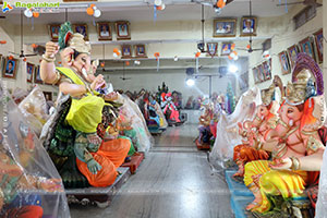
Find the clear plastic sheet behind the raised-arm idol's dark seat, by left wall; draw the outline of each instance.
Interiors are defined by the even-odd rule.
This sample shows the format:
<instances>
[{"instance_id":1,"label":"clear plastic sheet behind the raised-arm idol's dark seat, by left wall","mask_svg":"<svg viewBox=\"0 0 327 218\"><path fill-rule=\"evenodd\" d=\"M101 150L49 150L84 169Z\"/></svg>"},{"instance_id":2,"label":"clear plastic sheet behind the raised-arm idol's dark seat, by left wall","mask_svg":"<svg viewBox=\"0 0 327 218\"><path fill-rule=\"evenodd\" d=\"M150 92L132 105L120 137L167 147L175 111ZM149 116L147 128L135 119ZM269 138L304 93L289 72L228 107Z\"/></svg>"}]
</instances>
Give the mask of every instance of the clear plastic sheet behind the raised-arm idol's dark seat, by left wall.
<instances>
[{"instance_id":1,"label":"clear plastic sheet behind the raised-arm idol's dark seat, by left wall","mask_svg":"<svg viewBox=\"0 0 327 218\"><path fill-rule=\"evenodd\" d=\"M44 124L49 119L49 114L47 114L47 101L41 89L35 86L19 105L19 108L24 114L28 126L39 136Z\"/></svg>"}]
</instances>

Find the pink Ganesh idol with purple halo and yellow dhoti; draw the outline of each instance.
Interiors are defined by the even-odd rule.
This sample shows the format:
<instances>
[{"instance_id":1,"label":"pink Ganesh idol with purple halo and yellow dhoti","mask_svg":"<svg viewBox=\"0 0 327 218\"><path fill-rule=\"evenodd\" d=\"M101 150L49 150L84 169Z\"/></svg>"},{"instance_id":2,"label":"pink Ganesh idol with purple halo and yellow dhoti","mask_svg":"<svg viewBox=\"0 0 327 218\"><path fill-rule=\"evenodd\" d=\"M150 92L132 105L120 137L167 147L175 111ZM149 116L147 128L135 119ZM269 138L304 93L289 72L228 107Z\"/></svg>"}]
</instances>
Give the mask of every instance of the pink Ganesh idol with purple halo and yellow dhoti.
<instances>
[{"instance_id":1,"label":"pink Ganesh idol with purple halo and yellow dhoti","mask_svg":"<svg viewBox=\"0 0 327 218\"><path fill-rule=\"evenodd\" d=\"M262 146L272 152L272 161L245 165L244 183L255 196L246 209L254 213L271 210L278 196L284 201L302 197L322 167L325 147L318 129L326 110L323 74L311 57L300 53L292 78L279 123Z\"/></svg>"}]
</instances>

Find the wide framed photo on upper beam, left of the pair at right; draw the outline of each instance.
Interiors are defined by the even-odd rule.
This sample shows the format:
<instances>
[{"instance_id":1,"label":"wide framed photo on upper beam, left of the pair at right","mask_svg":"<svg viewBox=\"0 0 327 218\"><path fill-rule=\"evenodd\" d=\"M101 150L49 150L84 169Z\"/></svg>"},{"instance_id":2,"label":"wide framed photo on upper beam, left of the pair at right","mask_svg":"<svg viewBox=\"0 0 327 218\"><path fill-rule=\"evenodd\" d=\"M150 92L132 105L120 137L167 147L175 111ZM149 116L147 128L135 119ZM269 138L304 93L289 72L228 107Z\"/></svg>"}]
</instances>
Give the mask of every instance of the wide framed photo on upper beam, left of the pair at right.
<instances>
[{"instance_id":1,"label":"wide framed photo on upper beam, left of the pair at right","mask_svg":"<svg viewBox=\"0 0 327 218\"><path fill-rule=\"evenodd\" d=\"M214 20L214 37L234 37L237 35L237 19Z\"/></svg>"}]
</instances>

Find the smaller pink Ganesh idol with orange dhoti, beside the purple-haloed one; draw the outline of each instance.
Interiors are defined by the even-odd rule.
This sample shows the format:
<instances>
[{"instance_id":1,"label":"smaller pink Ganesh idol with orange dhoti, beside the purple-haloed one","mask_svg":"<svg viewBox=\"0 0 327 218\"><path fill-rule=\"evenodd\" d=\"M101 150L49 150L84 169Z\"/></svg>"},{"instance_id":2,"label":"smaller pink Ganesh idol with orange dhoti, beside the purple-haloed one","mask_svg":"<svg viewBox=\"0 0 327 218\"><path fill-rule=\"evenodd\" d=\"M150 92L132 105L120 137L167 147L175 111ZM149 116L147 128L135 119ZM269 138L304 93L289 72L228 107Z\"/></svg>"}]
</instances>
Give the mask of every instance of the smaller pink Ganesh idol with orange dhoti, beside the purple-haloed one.
<instances>
[{"instance_id":1,"label":"smaller pink Ganesh idol with orange dhoti, beside the purple-haloed one","mask_svg":"<svg viewBox=\"0 0 327 218\"><path fill-rule=\"evenodd\" d=\"M239 123L239 132L244 140L241 145L234 147L233 160L239 166L239 170L234 177L243 178L244 165L246 162L269 158L269 154L262 149L261 146L269 131L274 130L277 125L279 102L275 100L275 86L280 81L278 78L275 77L269 89L263 94L263 105L257 107L255 118L252 121L247 120Z\"/></svg>"}]
</instances>

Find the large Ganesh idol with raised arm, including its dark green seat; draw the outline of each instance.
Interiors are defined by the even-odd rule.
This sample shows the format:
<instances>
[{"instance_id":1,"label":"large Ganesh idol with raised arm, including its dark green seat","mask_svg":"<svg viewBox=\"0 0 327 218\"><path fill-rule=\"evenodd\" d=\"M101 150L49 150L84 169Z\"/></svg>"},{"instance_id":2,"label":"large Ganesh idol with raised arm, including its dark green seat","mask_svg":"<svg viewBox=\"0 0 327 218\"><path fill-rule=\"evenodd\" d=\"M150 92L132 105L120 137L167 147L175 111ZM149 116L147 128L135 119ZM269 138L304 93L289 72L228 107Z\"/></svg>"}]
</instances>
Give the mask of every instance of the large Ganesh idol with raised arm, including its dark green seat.
<instances>
[{"instance_id":1,"label":"large Ganesh idol with raised arm, including its dark green seat","mask_svg":"<svg viewBox=\"0 0 327 218\"><path fill-rule=\"evenodd\" d=\"M58 46L49 41L40 76L46 83L58 84L60 93L69 100L62 100L65 107L58 107L58 114L53 113L49 120L55 125L48 125L46 145L66 186L72 181L71 186L86 186L85 178L93 186L108 186L114 182L117 168L131 146L129 140L102 141L97 133L99 125L107 126L114 121L112 100L117 95L96 92L106 85L104 76L94 76L90 46L83 35L73 34L69 22L61 26L59 45L63 66L56 68Z\"/></svg>"}]
</instances>

